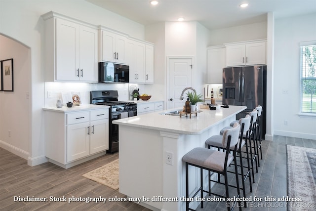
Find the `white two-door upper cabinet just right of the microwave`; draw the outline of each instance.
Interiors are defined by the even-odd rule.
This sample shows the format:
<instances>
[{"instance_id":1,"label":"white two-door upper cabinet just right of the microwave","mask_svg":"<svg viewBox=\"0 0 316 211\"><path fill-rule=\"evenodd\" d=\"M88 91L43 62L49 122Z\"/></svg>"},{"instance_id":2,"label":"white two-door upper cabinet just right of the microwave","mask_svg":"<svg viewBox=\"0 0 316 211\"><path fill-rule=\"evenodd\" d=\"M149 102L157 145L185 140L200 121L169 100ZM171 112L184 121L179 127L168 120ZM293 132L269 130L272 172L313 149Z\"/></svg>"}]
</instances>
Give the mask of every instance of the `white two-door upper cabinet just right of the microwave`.
<instances>
[{"instance_id":1,"label":"white two-door upper cabinet just right of the microwave","mask_svg":"<svg viewBox=\"0 0 316 211\"><path fill-rule=\"evenodd\" d=\"M129 65L130 83L154 83L153 44L134 39L127 39L126 64Z\"/></svg>"}]
</instances>

